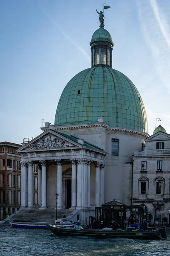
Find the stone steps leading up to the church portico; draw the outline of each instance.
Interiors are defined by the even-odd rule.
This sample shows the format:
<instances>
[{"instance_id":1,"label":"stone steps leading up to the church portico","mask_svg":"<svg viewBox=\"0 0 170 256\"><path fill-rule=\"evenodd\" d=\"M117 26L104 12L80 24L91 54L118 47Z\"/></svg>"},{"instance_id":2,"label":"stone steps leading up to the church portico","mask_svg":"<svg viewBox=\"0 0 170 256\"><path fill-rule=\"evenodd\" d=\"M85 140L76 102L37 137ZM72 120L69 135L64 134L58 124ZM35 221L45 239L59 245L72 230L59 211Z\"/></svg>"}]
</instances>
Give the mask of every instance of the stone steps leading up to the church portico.
<instances>
[{"instance_id":1,"label":"stone steps leading up to the church portico","mask_svg":"<svg viewBox=\"0 0 170 256\"><path fill-rule=\"evenodd\" d=\"M73 210L70 209L58 209L57 218L63 218L65 215L66 218L71 214ZM10 218L10 216L9 216ZM56 220L56 209L23 209L18 212L16 215L10 218L11 220L23 220L23 221L40 221L54 223Z\"/></svg>"}]
</instances>

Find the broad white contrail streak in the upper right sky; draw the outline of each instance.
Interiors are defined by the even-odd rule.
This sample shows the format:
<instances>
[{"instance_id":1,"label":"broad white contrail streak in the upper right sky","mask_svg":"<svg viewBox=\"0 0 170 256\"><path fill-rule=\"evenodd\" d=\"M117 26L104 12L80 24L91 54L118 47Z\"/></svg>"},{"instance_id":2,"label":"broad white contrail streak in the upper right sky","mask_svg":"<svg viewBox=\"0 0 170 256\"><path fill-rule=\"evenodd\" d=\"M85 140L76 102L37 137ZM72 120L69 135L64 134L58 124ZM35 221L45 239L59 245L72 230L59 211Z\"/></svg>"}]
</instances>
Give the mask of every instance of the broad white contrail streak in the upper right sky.
<instances>
[{"instance_id":1,"label":"broad white contrail streak in the upper right sky","mask_svg":"<svg viewBox=\"0 0 170 256\"><path fill-rule=\"evenodd\" d=\"M170 92L170 34L165 15L156 0L136 0L144 39L154 58L157 87ZM155 88L156 89L156 88Z\"/></svg>"}]
</instances>

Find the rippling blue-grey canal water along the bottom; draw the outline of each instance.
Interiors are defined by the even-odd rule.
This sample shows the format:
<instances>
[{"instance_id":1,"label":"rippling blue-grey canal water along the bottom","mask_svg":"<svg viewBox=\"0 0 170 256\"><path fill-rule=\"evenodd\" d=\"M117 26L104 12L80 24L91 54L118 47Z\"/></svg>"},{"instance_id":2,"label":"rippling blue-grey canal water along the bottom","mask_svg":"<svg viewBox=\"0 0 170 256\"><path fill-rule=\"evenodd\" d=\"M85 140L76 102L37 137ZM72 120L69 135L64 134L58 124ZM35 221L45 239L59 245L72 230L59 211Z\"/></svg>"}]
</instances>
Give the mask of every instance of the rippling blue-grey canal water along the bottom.
<instances>
[{"instance_id":1,"label":"rippling blue-grey canal water along the bottom","mask_svg":"<svg viewBox=\"0 0 170 256\"><path fill-rule=\"evenodd\" d=\"M0 227L0 256L170 256L166 240L57 237L50 230Z\"/></svg>"}]
</instances>

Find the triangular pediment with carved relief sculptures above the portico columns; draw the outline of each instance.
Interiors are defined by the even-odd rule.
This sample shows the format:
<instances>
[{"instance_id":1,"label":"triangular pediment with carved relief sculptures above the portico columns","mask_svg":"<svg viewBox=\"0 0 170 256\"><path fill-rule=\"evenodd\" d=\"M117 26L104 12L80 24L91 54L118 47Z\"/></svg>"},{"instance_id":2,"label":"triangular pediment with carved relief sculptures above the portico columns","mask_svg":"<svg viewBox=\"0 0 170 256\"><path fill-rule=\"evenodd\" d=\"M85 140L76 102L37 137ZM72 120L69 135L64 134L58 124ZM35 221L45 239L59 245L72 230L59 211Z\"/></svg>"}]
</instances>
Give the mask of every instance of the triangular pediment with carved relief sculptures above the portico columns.
<instances>
[{"instance_id":1,"label":"triangular pediment with carved relief sculptures above the portico columns","mask_svg":"<svg viewBox=\"0 0 170 256\"><path fill-rule=\"evenodd\" d=\"M55 131L45 131L34 140L23 145L18 152L48 151L55 149L81 148L79 143L57 134Z\"/></svg>"}]
</instances>

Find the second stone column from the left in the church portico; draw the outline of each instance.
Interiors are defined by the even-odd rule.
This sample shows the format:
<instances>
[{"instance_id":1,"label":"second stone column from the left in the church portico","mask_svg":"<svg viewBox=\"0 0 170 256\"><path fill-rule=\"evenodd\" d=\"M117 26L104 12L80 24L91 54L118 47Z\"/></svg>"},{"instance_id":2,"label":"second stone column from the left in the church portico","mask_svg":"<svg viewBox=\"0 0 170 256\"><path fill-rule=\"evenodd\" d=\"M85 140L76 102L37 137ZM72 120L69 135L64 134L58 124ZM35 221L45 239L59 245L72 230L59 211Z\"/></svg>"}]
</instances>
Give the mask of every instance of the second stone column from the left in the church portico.
<instances>
[{"instance_id":1,"label":"second stone column from the left in the church portico","mask_svg":"<svg viewBox=\"0 0 170 256\"><path fill-rule=\"evenodd\" d=\"M33 208L33 163L28 162L28 208Z\"/></svg>"}]
</instances>

